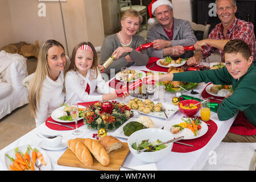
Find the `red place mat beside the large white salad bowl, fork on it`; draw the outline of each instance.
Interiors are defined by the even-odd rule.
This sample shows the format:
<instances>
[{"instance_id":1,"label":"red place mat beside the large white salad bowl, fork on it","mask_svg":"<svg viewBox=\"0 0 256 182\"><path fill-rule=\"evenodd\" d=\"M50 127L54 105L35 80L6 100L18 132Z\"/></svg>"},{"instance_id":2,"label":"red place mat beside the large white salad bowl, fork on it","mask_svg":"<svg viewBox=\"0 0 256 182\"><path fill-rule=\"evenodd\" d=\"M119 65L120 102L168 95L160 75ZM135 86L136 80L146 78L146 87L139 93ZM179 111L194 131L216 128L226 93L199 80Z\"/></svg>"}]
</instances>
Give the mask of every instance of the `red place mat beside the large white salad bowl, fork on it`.
<instances>
[{"instance_id":1,"label":"red place mat beside the large white salad bowl, fork on it","mask_svg":"<svg viewBox=\"0 0 256 182\"><path fill-rule=\"evenodd\" d=\"M212 138L212 136L216 133L218 129L216 123L213 122L212 120L206 121L205 123L210 124L210 126L207 125L208 131L202 137L177 141L177 142L192 144L193 147L185 146L184 144L174 143L174 146L172 147L172 152L186 153L186 152L193 152L193 151L199 150L200 148L203 148L209 142L209 140Z\"/></svg>"}]
</instances>

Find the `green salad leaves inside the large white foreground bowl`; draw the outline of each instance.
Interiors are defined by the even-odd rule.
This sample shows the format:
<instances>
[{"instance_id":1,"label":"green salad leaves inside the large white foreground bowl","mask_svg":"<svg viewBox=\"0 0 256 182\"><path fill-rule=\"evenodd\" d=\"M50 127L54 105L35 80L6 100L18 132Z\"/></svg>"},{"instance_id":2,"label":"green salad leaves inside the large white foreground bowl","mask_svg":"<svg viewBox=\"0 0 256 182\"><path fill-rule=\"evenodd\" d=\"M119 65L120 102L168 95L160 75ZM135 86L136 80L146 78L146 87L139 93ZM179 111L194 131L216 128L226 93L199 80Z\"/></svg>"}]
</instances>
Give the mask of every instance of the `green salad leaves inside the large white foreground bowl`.
<instances>
[{"instance_id":1,"label":"green salad leaves inside the large white foreground bowl","mask_svg":"<svg viewBox=\"0 0 256 182\"><path fill-rule=\"evenodd\" d=\"M137 142L134 142L131 147L134 150L142 150L144 148L147 148L145 152L154 152L154 151L159 151L162 150L163 148L166 148L166 144L160 144L159 146L154 146L155 144L162 143L159 139L156 140L156 142L150 143L148 142L149 140L142 140L142 142L137 146Z\"/></svg>"}]
</instances>

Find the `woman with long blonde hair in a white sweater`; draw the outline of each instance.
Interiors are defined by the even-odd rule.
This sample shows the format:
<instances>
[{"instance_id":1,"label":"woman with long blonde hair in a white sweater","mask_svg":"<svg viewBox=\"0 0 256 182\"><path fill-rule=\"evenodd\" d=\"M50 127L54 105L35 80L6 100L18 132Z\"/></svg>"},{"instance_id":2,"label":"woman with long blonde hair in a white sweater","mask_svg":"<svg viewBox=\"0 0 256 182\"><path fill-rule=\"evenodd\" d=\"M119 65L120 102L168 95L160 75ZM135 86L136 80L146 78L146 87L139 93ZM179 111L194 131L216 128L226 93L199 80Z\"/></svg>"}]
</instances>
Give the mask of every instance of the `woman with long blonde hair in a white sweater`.
<instances>
[{"instance_id":1,"label":"woman with long blonde hair in a white sweater","mask_svg":"<svg viewBox=\"0 0 256 182\"><path fill-rule=\"evenodd\" d=\"M30 83L28 101L36 127L64 102L64 69L67 68L64 47L47 40L40 48L38 65Z\"/></svg>"}]
</instances>

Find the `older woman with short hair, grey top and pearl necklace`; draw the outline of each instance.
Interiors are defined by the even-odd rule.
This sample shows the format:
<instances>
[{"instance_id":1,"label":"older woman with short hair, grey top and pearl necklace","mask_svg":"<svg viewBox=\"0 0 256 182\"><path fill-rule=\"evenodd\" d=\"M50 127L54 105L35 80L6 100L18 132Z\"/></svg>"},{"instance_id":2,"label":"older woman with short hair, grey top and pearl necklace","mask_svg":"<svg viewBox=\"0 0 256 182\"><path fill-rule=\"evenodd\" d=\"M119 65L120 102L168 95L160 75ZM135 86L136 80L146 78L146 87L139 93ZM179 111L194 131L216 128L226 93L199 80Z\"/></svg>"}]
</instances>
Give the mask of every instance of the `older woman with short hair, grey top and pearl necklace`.
<instances>
[{"instance_id":1,"label":"older woman with short hair, grey top and pearl necklace","mask_svg":"<svg viewBox=\"0 0 256 182\"><path fill-rule=\"evenodd\" d=\"M121 18L121 31L105 38L101 47L100 64L116 54L114 62L105 69L106 74L110 74L110 69L114 69L117 73L122 67L130 67L134 63L136 65L147 64L147 50L135 51L141 44L146 43L142 36L135 35L141 22L142 16L136 10L129 9Z\"/></svg>"}]
</instances>

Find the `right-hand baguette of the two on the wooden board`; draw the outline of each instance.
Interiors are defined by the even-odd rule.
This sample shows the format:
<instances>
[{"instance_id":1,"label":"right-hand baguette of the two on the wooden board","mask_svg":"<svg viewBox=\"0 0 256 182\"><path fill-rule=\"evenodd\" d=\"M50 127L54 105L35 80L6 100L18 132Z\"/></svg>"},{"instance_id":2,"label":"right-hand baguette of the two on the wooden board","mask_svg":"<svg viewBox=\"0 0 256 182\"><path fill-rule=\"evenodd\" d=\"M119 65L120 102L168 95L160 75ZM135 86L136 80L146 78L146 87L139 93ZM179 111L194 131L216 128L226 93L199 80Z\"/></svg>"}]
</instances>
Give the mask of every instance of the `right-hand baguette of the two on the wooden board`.
<instances>
[{"instance_id":1,"label":"right-hand baguette of the two on the wooden board","mask_svg":"<svg viewBox=\"0 0 256 182\"><path fill-rule=\"evenodd\" d=\"M107 166L110 163L108 153L106 152L105 148L100 143L98 143L97 140L85 138L84 144L92 153L94 158L96 158L98 162L101 163L102 166Z\"/></svg>"}]
</instances>

